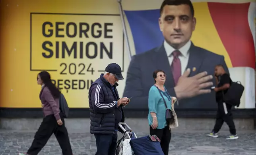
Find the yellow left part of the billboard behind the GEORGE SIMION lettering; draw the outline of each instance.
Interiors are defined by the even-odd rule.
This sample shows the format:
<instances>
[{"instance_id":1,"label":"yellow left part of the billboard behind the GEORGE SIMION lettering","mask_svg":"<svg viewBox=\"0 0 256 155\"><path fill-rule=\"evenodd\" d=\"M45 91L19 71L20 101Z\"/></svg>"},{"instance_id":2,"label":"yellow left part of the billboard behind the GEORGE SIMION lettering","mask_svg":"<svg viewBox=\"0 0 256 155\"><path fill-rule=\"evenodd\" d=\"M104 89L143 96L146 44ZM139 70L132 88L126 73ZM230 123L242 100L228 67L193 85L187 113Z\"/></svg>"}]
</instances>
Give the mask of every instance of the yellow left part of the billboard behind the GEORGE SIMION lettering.
<instances>
[{"instance_id":1,"label":"yellow left part of the billboard behind the GEORGE SIMION lettering","mask_svg":"<svg viewBox=\"0 0 256 155\"><path fill-rule=\"evenodd\" d=\"M62 93L70 108L88 108L88 88L91 81L95 81L103 73L107 64L116 62L124 70L124 63L129 62L127 56L124 56L124 38L116 0L2 0L0 15L0 80L2 81L0 107L41 107L39 100L41 86L37 85L37 74L39 70L57 70L48 72L52 79L57 81L56 84L59 80L60 88L64 88ZM46 26L45 32L50 34L48 29L52 29L51 37L43 36L44 22L52 23L52 27ZM64 38L56 37L56 22L64 22L64 25L58 26L64 29L58 32L59 35L64 35ZM69 22L77 25L78 35L74 38L66 35L66 25ZM84 34L83 37L79 37L79 23L89 25L88 38ZM97 23L94 30L91 27L93 23ZM112 23L107 26L110 30L107 36L112 36L112 38L104 38L104 23ZM74 34L74 25L69 28L70 34ZM86 26L83 25L83 30L85 29ZM99 30L102 30L101 36L93 38L92 33L99 36ZM42 55L42 53L49 55L49 52L42 48L43 42L46 41L52 43L52 47L49 44L46 45L53 51L51 58L45 58ZM56 42L59 42L59 58L56 58ZM74 51L70 57L65 51L65 59L62 58L62 42L67 45L68 49L71 49L73 43L77 42L76 59L74 59ZM83 43L82 59L80 59L80 42ZM88 42L97 45L97 57L93 59L86 57L85 47ZM103 44L109 50L111 43L112 58L109 58ZM93 56L95 46L89 45L88 48L88 54ZM103 59L100 56L101 49ZM64 70L65 67L66 70ZM93 74L90 71L92 69ZM60 74L63 70L66 74ZM68 88L65 82L70 84L70 89L65 89L65 87ZM120 89L123 89L124 85L120 85ZM79 89L79 87L85 88Z\"/></svg>"}]
</instances>

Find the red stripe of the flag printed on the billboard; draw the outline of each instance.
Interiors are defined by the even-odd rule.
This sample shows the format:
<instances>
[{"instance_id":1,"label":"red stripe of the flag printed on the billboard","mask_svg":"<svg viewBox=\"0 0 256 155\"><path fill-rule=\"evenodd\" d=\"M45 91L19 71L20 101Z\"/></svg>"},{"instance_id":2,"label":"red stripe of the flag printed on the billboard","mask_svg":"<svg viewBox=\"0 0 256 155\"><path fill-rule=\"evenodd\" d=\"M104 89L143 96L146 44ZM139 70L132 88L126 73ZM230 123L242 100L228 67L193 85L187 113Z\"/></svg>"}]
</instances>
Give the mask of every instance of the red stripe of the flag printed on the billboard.
<instances>
[{"instance_id":1,"label":"red stripe of the flag printed on the billboard","mask_svg":"<svg viewBox=\"0 0 256 155\"><path fill-rule=\"evenodd\" d=\"M208 2L211 18L233 67L255 68L254 41L248 23L249 6L250 3Z\"/></svg>"}]
</instances>

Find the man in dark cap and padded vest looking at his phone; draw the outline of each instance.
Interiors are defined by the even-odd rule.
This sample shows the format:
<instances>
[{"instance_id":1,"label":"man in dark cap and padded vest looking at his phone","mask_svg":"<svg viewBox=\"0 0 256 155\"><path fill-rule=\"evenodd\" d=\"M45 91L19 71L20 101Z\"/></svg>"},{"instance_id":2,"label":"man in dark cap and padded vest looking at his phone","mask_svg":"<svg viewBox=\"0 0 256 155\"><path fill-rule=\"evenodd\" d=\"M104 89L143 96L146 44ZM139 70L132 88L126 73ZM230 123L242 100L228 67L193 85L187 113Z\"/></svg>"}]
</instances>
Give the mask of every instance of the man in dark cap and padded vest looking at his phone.
<instances>
[{"instance_id":1,"label":"man in dark cap and padded vest looking at his phone","mask_svg":"<svg viewBox=\"0 0 256 155\"><path fill-rule=\"evenodd\" d=\"M124 122L122 108L130 102L127 97L119 98L116 89L116 82L124 79L121 73L118 64L109 64L89 89L90 132L96 138L96 155L115 154L118 123Z\"/></svg>"}]
</instances>

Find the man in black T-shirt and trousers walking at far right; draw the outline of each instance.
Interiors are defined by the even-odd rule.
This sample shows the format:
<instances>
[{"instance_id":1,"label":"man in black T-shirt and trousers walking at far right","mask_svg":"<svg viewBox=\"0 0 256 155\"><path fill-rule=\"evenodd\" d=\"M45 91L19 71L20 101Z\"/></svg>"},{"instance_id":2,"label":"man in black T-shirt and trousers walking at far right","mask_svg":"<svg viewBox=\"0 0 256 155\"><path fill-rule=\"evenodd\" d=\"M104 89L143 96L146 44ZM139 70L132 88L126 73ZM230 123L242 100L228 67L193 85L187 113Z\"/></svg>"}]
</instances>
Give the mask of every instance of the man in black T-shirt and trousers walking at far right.
<instances>
[{"instance_id":1,"label":"man in black T-shirt and trousers walking at far right","mask_svg":"<svg viewBox=\"0 0 256 155\"><path fill-rule=\"evenodd\" d=\"M226 139L238 139L235 123L233 121L233 115L231 113L232 105L223 101L223 95L227 93L232 81L229 77L229 74L225 72L222 65L217 65L215 67L215 76L218 82L217 88L214 89L216 92L216 101L218 103L218 112L215 126L212 132L208 134L208 136L217 138L219 136L218 132L225 121L229 126L229 131L231 133L231 135ZM220 77L220 80L218 80L217 77Z\"/></svg>"}]
</instances>

